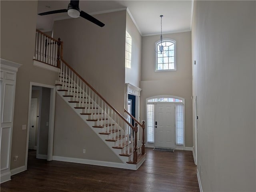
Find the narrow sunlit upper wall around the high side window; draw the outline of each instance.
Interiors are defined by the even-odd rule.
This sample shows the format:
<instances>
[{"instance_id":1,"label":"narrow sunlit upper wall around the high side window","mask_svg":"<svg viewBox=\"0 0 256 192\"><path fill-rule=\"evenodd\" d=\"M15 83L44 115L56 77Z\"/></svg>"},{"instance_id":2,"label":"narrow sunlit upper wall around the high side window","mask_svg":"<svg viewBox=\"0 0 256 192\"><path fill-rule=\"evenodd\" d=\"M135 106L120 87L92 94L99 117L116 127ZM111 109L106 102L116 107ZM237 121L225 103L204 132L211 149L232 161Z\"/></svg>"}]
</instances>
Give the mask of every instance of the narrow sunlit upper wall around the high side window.
<instances>
[{"instance_id":1,"label":"narrow sunlit upper wall around the high side window","mask_svg":"<svg viewBox=\"0 0 256 192\"><path fill-rule=\"evenodd\" d=\"M140 87L142 37L128 12L126 12L126 31L132 37L132 62L131 68L125 68L125 83Z\"/></svg>"}]
</instances>

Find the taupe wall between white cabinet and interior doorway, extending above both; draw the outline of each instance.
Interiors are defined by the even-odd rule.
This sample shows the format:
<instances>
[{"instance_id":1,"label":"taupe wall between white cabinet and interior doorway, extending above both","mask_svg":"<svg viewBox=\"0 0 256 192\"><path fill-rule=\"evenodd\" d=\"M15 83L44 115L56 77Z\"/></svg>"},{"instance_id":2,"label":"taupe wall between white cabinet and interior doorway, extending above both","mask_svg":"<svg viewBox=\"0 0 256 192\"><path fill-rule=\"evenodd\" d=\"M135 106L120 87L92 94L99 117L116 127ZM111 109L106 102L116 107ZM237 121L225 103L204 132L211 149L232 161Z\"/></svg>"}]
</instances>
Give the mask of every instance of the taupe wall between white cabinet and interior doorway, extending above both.
<instances>
[{"instance_id":1,"label":"taupe wall between white cabinet and interior doorway, extending above both","mask_svg":"<svg viewBox=\"0 0 256 192\"><path fill-rule=\"evenodd\" d=\"M0 57L22 64L17 73L14 104L11 158L19 156L17 161L11 161L14 169L25 165L27 129L22 130L22 125L28 123L30 81L55 85L58 74L33 66L37 1L1 0L0 7Z\"/></svg>"}]
</instances>

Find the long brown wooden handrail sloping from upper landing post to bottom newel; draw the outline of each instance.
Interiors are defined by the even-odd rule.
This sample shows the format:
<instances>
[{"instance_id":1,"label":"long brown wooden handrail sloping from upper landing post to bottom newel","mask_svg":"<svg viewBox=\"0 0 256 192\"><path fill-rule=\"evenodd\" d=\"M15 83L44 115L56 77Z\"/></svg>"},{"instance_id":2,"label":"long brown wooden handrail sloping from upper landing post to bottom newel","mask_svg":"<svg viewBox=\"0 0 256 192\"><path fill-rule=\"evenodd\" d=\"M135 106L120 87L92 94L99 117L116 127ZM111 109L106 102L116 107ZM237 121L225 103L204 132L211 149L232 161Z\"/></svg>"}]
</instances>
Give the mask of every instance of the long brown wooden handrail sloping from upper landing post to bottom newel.
<instances>
[{"instance_id":1,"label":"long brown wooden handrail sloping from upper landing post to bottom newel","mask_svg":"<svg viewBox=\"0 0 256 192\"><path fill-rule=\"evenodd\" d=\"M132 124L130 124L114 107L112 107L112 105L110 105L108 103L108 101L106 101L106 99L104 99L104 97L102 97L102 95L100 95L100 93L98 93L98 91L96 91L86 80L84 80L83 77L81 77L64 59L63 59L63 42L61 42L61 48L60 48L60 59L62 60L63 63L65 63L65 65L67 65L71 71L73 71L82 81L84 81L84 83L90 87L90 89L92 89L92 91L94 91L94 93L96 93L101 99L102 101L104 101L114 112L116 112L116 114L121 117L121 119L124 120L124 122L126 122L130 127L132 127L133 130L134 127L132 126Z\"/></svg>"}]
</instances>

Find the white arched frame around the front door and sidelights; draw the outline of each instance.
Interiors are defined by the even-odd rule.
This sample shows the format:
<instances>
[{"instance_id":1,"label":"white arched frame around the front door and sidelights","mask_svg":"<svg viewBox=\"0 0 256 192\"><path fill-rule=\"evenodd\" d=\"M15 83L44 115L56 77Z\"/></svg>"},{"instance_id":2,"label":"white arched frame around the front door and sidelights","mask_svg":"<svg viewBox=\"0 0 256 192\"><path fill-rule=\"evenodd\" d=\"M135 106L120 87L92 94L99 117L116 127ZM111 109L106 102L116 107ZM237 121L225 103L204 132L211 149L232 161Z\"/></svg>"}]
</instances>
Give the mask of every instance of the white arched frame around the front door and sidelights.
<instances>
[{"instance_id":1,"label":"white arched frame around the front door and sidelights","mask_svg":"<svg viewBox=\"0 0 256 192\"><path fill-rule=\"evenodd\" d=\"M159 97L169 97L169 98L174 98L174 99L180 99L182 100L183 102L148 102L148 100L150 99L155 99L155 98L159 98ZM148 104L154 104L154 103L182 103L183 104L183 146L182 147L178 147L180 145L177 145L176 144L176 149L179 149L179 150L186 150L186 125L185 125L185 99L182 98L182 97L177 97L177 96L174 96L174 95L156 95L156 96L153 96L153 97L148 97L146 98L146 119L148 117ZM175 112L176 113L176 112ZM146 122L146 121L145 121ZM151 147L151 148L154 148L155 146L155 143L151 144L151 143L148 143L148 125L147 125L148 122L145 123L145 145L146 147ZM175 122L176 124L176 122ZM176 130L176 126L175 126L175 130ZM176 142L176 138L175 138L175 142Z\"/></svg>"}]
</instances>

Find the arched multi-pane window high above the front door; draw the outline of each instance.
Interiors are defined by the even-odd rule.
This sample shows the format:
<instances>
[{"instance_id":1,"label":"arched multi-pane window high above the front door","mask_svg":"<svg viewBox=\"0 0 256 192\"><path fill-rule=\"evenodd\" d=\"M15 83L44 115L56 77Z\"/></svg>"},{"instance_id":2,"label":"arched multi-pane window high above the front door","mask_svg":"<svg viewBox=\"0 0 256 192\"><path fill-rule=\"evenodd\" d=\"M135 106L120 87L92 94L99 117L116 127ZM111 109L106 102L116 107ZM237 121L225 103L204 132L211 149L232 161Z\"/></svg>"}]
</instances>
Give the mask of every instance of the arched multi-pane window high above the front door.
<instances>
[{"instance_id":1,"label":"arched multi-pane window high above the front door","mask_svg":"<svg viewBox=\"0 0 256 192\"><path fill-rule=\"evenodd\" d=\"M176 71L176 41L163 39L156 46L155 71Z\"/></svg>"}]
</instances>

